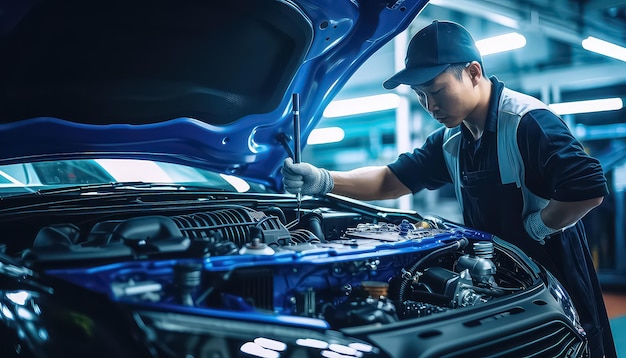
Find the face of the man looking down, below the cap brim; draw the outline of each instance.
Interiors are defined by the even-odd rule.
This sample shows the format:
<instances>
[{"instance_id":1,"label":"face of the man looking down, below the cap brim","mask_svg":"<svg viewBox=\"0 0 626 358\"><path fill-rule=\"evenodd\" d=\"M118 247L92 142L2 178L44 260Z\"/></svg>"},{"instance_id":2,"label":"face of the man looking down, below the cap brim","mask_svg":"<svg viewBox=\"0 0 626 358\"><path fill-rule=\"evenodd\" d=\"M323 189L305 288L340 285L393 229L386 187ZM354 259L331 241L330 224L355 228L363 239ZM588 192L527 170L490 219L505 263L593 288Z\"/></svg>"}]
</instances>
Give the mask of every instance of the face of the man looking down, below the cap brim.
<instances>
[{"instance_id":1,"label":"face of the man looking down, below the cap brim","mask_svg":"<svg viewBox=\"0 0 626 358\"><path fill-rule=\"evenodd\" d=\"M477 91L467 71L463 69L461 78L446 70L423 86L411 86L420 104L448 128L460 125L478 103Z\"/></svg>"}]
</instances>

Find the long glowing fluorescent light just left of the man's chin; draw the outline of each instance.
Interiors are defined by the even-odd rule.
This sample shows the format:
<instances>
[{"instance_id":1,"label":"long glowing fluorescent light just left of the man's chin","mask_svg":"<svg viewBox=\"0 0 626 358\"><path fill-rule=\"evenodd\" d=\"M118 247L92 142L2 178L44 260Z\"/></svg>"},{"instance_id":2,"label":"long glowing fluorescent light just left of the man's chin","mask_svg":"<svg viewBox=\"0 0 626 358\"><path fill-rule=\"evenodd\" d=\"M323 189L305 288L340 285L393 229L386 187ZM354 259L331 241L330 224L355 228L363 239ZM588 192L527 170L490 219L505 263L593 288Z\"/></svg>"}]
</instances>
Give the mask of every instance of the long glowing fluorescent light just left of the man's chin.
<instances>
[{"instance_id":1,"label":"long glowing fluorescent light just left of the man's chin","mask_svg":"<svg viewBox=\"0 0 626 358\"><path fill-rule=\"evenodd\" d=\"M375 96L358 97L332 101L324 111L324 117L345 117L395 109L400 103L400 96L386 93Z\"/></svg>"}]
</instances>

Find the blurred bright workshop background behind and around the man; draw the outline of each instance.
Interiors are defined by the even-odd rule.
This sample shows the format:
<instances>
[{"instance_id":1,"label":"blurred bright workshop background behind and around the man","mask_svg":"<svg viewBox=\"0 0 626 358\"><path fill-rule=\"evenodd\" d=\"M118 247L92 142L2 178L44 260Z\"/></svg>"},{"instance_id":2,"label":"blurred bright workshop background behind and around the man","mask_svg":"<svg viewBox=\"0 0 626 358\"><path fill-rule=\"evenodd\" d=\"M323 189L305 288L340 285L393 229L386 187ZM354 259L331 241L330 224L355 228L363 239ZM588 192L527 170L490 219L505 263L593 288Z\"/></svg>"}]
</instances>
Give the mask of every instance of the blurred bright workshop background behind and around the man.
<instances>
[{"instance_id":1,"label":"blurred bright workshop background behind and around the man","mask_svg":"<svg viewBox=\"0 0 626 358\"><path fill-rule=\"evenodd\" d=\"M611 194L584 222L602 284L626 286L626 1L433 0L346 84L303 160L349 170L388 164L422 145L440 124L406 86L386 91L382 82L404 68L412 35L434 19L465 26L488 76L553 106L600 160ZM451 187L376 204L461 221Z\"/></svg>"}]
</instances>

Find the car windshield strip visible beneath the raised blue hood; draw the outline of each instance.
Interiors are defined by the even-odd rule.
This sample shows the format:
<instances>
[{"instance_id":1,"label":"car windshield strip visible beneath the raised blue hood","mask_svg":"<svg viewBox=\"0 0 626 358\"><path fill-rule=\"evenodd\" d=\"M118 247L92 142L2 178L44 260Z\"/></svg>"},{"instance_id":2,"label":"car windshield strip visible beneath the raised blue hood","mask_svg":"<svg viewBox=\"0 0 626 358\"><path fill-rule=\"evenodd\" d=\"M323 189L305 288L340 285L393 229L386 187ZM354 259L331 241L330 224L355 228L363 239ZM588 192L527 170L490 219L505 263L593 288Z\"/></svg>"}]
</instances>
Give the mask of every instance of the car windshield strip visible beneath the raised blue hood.
<instances>
[{"instance_id":1,"label":"car windshield strip visible beneath the raised blue hood","mask_svg":"<svg viewBox=\"0 0 626 358\"><path fill-rule=\"evenodd\" d=\"M242 178L179 164L135 159L81 159L0 165L0 196L111 183L193 186L230 192L267 192Z\"/></svg>"}]
</instances>

